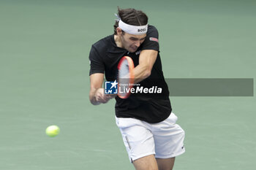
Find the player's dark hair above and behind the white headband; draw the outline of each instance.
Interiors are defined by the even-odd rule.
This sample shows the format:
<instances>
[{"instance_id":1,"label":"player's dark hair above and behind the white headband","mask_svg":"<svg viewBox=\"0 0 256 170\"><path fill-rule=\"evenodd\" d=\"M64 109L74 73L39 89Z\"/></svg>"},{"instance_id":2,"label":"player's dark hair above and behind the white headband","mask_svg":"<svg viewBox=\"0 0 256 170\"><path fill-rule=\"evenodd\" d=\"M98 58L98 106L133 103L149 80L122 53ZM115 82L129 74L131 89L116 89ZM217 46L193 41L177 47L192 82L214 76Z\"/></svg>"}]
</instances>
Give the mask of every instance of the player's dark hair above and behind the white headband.
<instances>
[{"instance_id":1,"label":"player's dark hair above and behind the white headband","mask_svg":"<svg viewBox=\"0 0 256 170\"><path fill-rule=\"evenodd\" d=\"M128 9L120 9L118 7L118 14L119 18L124 23L127 23L132 26L145 26L148 23L148 16L140 11L133 8ZM118 27L118 21L116 21L114 25L114 34L116 35L116 28Z\"/></svg>"}]
</instances>

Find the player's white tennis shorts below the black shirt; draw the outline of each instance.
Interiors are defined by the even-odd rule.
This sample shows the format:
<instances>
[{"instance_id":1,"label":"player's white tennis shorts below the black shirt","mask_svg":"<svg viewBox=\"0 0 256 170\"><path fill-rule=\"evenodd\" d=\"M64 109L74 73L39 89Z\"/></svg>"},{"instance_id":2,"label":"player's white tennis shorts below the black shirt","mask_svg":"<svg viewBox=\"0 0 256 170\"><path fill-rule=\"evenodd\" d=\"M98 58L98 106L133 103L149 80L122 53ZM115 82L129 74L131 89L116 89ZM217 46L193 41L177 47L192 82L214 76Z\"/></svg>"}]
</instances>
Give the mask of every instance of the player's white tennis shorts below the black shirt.
<instances>
[{"instance_id":1,"label":"player's white tennis shorts below the black shirt","mask_svg":"<svg viewBox=\"0 0 256 170\"><path fill-rule=\"evenodd\" d=\"M132 162L146 155L173 158L184 153L185 133L181 126L176 124L177 119L174 113L160 123L116 117L116 125L123 136L129 160Z\"/></svg>"}]
</instances>

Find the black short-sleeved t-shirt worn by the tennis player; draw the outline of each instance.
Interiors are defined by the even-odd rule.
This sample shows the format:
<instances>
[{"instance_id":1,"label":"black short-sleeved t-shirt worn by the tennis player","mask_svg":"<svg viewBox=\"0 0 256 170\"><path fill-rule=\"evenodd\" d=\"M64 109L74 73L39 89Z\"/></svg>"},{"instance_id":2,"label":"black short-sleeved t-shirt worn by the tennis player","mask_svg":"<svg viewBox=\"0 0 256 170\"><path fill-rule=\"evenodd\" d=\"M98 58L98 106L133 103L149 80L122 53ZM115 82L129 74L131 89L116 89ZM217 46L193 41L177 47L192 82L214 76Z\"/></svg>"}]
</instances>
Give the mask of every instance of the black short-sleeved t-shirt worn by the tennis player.
<instances>
[{"instance_id":1,"label":"black short-sleeved t-shirt worn by the tennis player","mask_svg":"<svg viewBox=\"0 0 256 170\"><path fill-rule=\"evenodd\" d=\"M89 55L90 75L105 73L108 81L117 78L117 66L120 59L126 55L132 58L138 66L139 55L142 50L157 50L159 52L158 31L154 26L148 26L146 39L135 53L116 46L114 35L100 39L91 47ZM162 72L162 63L159 56L151 70L151 75L138 82L143 87L162 88L161 94L131 94L129 98L116 97L116 117L133 117L148 123L159 123L165 120L172 111L170 106L169 91Z\"/></svg>"}]
</instances>

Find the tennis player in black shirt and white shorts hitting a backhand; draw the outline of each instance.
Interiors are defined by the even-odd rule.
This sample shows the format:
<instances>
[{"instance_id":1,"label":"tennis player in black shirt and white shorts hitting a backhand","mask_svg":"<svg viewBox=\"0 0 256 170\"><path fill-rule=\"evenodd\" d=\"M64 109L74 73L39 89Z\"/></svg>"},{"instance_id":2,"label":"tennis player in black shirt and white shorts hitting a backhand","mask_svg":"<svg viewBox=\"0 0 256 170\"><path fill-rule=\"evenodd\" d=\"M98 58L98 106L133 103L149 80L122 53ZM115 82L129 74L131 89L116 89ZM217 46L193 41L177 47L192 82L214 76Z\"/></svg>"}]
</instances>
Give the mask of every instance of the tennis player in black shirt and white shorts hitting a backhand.
<instances>
[{"instance_id":1,"label":"tennis player in black shirt and white shorts hitting a backhand","mask_svg":"<svg viewBox=\"0 0 256 170\"><path fill-rule=\"evenodd\" d=\"M104 74L106 80L116 80L118 61L123 56L132 58L135 82L143 87L157 83L162 93L131 94L126 99L116 96L116 124L129 160L137 170L173 169L176 156L185 152L184 130L176 124L177 117L170 105L157 28L148 25L147 15L140 10L118 8L116 16L114 34L91 47L89 99L94 105L108 102L112 96L102 88Z\"/></svg>"}]
</instances>

